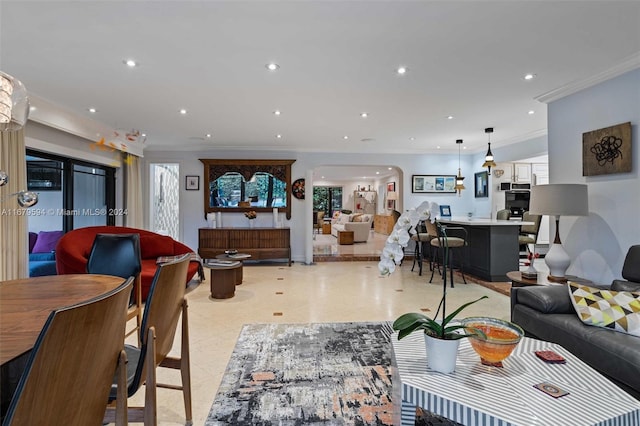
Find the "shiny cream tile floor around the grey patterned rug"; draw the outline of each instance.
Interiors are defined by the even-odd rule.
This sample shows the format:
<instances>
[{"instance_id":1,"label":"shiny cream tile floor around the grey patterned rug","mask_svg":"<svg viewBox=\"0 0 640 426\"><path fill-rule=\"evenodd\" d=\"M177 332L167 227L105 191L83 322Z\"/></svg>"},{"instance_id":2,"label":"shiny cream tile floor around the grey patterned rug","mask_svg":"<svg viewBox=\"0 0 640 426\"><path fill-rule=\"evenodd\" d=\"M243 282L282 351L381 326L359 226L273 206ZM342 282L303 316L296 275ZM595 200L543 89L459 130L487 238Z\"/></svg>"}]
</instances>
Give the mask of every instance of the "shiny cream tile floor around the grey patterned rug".
<instances>
[{"instance_id":1,"label":"shiny cream tile floor around the grey patterned rug","mask_svg":"<svg viewBox=\"0 0 640 426\"><path fill-rule=\"evenodd\" d=\"M245 266L243 284L235 297L226 300L209 298L207 276L207 281L187 295L193 424L201 425L206 419L243 324L392 321L423 308L435 312L441 282L429 284L428 277L419 277L410 269L411 264L405 263L392 276L382 278L377 262ZM485 294L490 299L472 305L463 316L508 319L509 298L477 284L456 281L456 287L448 291L447 305L457 306ZM179 343L174 348L178 350ZM175 371L161 371L159 377L179 383ZM129 404L141 404L143 395L144 389ZM159 389L158 406L159 424L184 424L181 392Z\"/></svg>"}]
</instances>

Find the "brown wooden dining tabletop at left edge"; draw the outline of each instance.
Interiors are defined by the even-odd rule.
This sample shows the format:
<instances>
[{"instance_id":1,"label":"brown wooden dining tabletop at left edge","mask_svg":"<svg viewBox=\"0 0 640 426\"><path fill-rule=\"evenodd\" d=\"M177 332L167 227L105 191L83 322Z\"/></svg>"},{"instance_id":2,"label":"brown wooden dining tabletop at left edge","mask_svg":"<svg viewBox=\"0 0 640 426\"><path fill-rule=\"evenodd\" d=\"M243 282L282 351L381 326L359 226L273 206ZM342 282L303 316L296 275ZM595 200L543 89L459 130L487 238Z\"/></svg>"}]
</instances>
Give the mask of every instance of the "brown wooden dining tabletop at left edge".
<instances>
[{"instance_id":1,"label":"brown wooden dining tabletop at left edge","mask_svg":"<svg viewBox=\"0 0 640 426\"><path fill-rule=\"evenodd\" d=\"M51 311L85 302L122 284L108 275L51 275L0 282L0 365L28 352Z\"/></svg>"}]
</instances>

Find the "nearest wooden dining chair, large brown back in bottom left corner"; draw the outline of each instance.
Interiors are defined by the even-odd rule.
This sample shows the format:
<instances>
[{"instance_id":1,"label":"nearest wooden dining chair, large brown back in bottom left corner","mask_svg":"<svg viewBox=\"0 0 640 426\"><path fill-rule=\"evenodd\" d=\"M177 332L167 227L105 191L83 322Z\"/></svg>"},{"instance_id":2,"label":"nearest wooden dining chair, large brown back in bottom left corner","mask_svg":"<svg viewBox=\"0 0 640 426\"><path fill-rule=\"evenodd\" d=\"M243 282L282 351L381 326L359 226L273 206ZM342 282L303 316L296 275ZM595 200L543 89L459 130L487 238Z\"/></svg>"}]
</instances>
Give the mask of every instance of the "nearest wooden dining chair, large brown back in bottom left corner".
<instances>
[{"instance_id":1,"label":"nearest wooden dining chair, large brown back in bottom left corner","mask_svg":"<svg viewBox=\"0 0 640 426\"><path fill-rule=\"evenodd\" d=\"M102 296L51 312L3 426L102 424L116 366L126 368L125 312L132 287L129 278ZM126 403L116 406L116 424L126 424Z\"/></svg>"}]
</instances>

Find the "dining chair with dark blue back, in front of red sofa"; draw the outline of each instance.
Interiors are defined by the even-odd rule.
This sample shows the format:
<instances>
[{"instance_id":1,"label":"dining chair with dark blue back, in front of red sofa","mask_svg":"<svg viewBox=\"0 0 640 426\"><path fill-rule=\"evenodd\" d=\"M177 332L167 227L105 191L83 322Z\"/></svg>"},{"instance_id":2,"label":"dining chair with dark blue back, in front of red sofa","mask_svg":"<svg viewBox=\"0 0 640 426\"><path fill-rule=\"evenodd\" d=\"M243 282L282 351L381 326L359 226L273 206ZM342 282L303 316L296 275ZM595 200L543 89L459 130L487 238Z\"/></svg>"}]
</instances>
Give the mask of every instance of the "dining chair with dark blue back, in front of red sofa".
<instances>
[{"instance_id":1,"label":"dining chair with dark blue back, in front of red sofa","mask_svg":"<svg viewBox=\"0 0 640 426\"><path fill-rule=\"evenodd\" d=\"M87 261L87 273L134 277L133 293L127 310L127 321L135 318L136 327L126 332L129 336L142 324L142 260L139 234L97 234Z\"/></svg>"}]
</instances>

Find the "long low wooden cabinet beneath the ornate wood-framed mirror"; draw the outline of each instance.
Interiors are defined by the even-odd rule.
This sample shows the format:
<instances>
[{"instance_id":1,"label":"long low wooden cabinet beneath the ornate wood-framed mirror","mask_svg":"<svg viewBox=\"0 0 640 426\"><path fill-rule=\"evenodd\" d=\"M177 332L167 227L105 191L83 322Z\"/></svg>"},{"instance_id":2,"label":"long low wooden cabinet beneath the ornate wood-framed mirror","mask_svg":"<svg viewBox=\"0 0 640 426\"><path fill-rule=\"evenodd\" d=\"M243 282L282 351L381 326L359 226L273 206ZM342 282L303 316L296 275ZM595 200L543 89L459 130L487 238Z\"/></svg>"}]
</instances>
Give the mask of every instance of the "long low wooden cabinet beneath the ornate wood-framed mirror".
<instances>
[{"instance_id":1,"label":"long low wooden cabinet beneath the ornate wood-framed mirror","mask_svg":"<svg viewBox=\"0 0 640 426\"><path fill-rule=\"evenodd\" d=\"M251 255L251 260L286 259L291 266L289 228L200 228L198 254L213 259L225 250Z\"/></svg>"}]
</instances>

